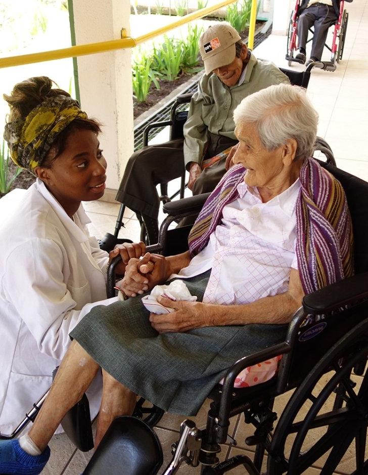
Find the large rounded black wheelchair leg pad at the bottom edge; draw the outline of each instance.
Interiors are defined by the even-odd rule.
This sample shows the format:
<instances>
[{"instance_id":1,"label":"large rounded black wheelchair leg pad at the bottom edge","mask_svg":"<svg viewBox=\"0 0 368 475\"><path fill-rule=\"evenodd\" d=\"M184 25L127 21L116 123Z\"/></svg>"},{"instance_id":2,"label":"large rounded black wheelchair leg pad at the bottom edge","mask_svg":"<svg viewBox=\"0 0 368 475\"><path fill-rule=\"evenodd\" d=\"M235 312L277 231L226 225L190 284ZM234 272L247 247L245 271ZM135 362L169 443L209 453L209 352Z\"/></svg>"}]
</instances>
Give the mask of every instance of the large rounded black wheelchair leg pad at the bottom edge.
<instances>
[{"instance_id":1,"label":"large rounded black wheelchair leg pad at the bottom edge","mask_svg":"<svg viewBox=\"0 0 368 475\"><path fill-rule=\"evenodd\" d=\"M110 425L84 475L156 475L163 463L160 441L141 419L117 417Z\"/></svg>"}]
</instances>

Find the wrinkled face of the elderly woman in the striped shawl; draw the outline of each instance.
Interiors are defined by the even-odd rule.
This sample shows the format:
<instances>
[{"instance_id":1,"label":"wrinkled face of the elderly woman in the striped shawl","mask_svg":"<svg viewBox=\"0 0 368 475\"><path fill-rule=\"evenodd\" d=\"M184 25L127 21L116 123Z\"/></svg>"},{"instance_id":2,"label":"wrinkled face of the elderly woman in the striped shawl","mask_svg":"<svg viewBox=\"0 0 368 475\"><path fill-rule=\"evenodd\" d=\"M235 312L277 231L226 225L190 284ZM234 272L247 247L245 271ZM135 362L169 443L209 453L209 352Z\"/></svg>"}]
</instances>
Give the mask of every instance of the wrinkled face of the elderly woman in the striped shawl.
<instances>
[{"instance_id":1,"label":"wrinkled face of the elderly woman in the striped shawl","mask_svg":"<svg viewBox=\"0 0 368 475\"><path fill-rule=\"evenodd\" d=\"M251 123L237 125L235 135L239 147L233 161L247 168L244 182L252 187L272 187L284 168L283 147L271 152L266 150L259 140L255 125Z\"/></svg>"}]
</instances>

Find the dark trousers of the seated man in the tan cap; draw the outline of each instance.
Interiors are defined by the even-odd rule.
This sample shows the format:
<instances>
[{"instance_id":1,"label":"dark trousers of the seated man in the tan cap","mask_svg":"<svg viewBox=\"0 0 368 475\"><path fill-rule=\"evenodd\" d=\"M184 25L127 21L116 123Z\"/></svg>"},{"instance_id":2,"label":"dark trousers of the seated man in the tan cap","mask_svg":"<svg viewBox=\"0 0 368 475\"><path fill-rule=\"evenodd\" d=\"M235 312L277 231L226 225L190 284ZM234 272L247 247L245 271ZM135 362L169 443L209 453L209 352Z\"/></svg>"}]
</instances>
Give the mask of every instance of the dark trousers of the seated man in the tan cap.
<instances>
[{"instance_id":1,"label":"dark trousers of the seated man in the tan cap","mask_svg":"<svg viewBox=\"0 0 368 475\"><path fill-rule=\"evenodd\" d=\"M236 140L213 134L210 134L209 139L205 158L213 157L237 143ZM154 233L158 231L160 201L156 186L180 177L183 172L183 139L149 145L134 152L129 158L116 199L141 214L146 228L157 228L152 229L150 242L157 242ZM212 191L224 173L225 159L206 168L195 183L193 194ZM148 222L150 226L147 226Z\"/></svg>"}]
</instances>

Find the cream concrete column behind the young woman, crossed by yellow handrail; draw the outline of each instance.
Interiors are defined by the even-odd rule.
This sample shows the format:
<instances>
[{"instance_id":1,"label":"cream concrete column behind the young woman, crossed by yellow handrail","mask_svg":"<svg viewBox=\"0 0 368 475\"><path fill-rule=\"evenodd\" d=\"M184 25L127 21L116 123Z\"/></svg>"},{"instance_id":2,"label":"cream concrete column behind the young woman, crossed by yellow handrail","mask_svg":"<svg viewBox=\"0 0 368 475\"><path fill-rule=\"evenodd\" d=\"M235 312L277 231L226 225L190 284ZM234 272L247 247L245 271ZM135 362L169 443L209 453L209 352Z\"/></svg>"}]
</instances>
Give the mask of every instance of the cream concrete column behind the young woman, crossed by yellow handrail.
<instances>
[{"instance_id":1,"label":"cream concrete column behind the young woman, crossed by yellow handrail","mask_svg":"<svg viewBox=\"0 0 368 475\"><path fill-rule=\"evenodd\" d=\"M127 0L73 0L76 44L129 35ZM116 50L78 57L81 107L103 124L101 147L108 163L105 200L111 201L133 152L131 51Z\"/></svg>"}]
</instances>

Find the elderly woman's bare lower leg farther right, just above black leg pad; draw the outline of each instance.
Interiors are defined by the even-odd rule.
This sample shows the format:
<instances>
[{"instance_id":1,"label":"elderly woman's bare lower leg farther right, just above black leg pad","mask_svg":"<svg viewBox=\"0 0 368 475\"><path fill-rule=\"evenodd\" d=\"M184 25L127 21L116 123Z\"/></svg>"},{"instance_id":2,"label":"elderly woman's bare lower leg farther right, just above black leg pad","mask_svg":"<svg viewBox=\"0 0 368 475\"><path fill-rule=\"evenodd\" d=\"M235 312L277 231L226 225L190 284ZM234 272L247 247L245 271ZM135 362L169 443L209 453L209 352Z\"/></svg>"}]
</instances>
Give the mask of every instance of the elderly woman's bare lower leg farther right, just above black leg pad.
<instances>
[{"instance_id":1,"label":"elderly woman's bare lower leg farther right, just above black leg pad","mask_svg":"<svg viewBox=\"0 0 368 475\"><path fill-rule=\"evenodd\" d=\"M101 407L97 419L95 449L100 444L111 422L118 416L130 416L133 413L136 394L102 370L104 388Z\"/></svg>"}]
</instances>

